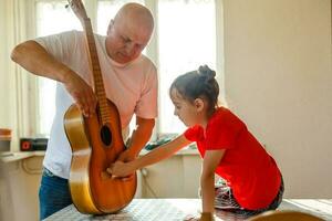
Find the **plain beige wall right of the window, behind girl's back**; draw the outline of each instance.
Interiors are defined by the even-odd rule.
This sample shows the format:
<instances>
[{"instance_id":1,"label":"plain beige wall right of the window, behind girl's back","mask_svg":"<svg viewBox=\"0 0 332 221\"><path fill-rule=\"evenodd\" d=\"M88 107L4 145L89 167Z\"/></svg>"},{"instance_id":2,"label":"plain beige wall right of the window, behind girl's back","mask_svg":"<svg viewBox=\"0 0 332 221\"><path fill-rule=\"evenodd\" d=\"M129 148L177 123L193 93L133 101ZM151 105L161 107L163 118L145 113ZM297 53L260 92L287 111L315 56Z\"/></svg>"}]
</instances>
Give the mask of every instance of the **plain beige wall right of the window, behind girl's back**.
<instances>
[{"instance_id":1,"label":"plain beige wall right of the window, behind girl's back","mask_svg":"<svg viewBox=\"0 0 332 221\"><path fill-rule=\"evenodd\" d=\"M290 198L332 198L331 0L225 0L232 109L280 165Z\"/></svg>"}]
</instances>

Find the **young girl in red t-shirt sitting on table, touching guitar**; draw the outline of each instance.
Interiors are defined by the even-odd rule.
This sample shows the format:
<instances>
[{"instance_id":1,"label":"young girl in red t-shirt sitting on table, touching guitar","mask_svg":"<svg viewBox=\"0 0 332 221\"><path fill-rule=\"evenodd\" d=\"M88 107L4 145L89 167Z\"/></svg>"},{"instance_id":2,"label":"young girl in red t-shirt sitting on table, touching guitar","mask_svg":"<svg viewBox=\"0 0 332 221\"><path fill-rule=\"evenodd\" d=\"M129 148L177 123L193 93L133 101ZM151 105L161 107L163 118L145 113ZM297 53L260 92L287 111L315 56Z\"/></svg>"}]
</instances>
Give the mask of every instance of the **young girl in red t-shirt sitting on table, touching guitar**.
<instances>
[{"instance_id":1,"label":"young girl in red t-shirt sitting on table, touching guitar","mask_svg":"<svg viewBox=\"0 0 332 221\"><path fill-rule=\"evenodd\" d=\"M219 86L215 76L207 65L178 76L169 95L174 114L188 129L134 161L116 161L107 171L126 177L196 141L203 158L199 220L212 220L215 207L242 214L274 210L283 193L281 172L246 124L226 107L218 107ZM227 181L216 190L215 172Z\"/></svg>"}]
</instances>

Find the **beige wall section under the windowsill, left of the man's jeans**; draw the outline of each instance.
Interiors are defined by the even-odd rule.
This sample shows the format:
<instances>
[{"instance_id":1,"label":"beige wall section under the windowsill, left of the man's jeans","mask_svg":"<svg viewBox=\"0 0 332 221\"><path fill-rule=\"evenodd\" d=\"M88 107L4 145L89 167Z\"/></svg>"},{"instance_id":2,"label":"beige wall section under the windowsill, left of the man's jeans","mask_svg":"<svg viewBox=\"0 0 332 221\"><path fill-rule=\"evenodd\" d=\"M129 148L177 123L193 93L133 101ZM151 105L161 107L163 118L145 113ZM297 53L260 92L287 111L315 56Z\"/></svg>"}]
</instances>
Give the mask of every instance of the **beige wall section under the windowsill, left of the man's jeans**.
<instances>
[{"instance_id":1,"label":"beige wall section under the windowsill, left of the man's jeans","mask_svg":"<svg viewBox=\"0 0 332 221\"><path fill-rule=\"evenodd\" d=\"M42 157L0 165L0 220L39 220Z\"/></svg>"}]
</instances>

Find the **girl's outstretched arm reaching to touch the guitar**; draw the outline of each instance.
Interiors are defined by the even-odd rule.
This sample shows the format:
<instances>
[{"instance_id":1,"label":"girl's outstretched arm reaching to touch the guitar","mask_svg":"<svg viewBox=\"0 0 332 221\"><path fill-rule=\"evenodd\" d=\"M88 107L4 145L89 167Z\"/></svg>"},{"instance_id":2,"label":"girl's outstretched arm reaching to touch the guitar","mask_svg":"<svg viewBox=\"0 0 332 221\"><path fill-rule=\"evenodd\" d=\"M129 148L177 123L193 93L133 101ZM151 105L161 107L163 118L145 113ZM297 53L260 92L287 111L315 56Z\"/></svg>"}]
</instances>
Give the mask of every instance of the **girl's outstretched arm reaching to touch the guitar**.
<instances>
[{"instance_id":1,"label":"girl's outstretched arm reaching to touch the guitar","mask_svg":"<svg viewBox=\"0 0 332 221\"><path fill-rule=\"evenodd\" d=\"M116 177L126 177L135 170L156 164L163 159L170 157L173 154L189 145L191 141L186 139L184 135L178 136L174 140L162 145L160 147L149 151L148 154L129 162L116 161L107 171Z\"/></svg>"}]
</instances>

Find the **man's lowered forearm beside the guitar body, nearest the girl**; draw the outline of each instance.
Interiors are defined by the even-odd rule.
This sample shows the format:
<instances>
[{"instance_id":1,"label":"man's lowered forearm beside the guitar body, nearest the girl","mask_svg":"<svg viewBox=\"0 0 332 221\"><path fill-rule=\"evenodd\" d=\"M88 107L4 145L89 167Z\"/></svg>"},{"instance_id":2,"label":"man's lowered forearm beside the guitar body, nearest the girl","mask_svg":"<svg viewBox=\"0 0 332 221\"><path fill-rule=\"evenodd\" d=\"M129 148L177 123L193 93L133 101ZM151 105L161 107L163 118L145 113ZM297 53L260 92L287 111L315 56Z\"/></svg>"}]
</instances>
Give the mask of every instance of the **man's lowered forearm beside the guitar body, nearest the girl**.
<instances>
[{"instance_id":1,"label":"man's lowered forearm beside the guitar body, nearest the girl","mask_svg":"<svg viewBox=\"0 0 332 221\"><path fill-rule=\"evenodd\" d=\"M155 119L136 117L136 129L131 137L128 149L117 160L131 161L135 159L149 140L154 126Z\"/></svg>"}]
</instances>

